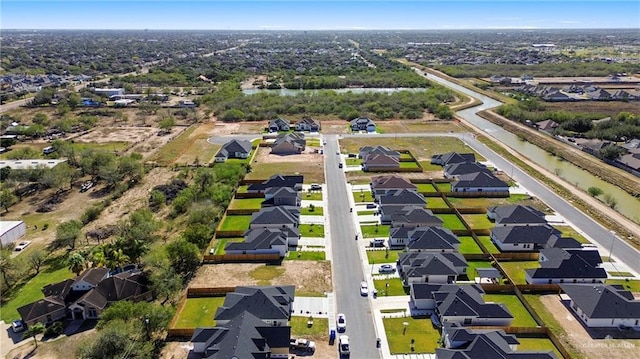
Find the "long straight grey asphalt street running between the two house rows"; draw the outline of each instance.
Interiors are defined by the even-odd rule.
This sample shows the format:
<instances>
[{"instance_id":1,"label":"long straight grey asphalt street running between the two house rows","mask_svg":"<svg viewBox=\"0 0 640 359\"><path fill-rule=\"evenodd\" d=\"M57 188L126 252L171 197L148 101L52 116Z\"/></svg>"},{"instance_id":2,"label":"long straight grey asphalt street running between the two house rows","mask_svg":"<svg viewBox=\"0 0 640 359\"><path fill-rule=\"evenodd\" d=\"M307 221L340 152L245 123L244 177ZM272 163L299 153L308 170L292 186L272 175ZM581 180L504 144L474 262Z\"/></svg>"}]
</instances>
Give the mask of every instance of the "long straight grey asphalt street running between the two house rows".
<instances>
[{"instance_id":1,"label":"long straight grey asphalt street running between the two house rows","mask_svg":"<svg viewBox=\"0 0 640 359\"><path fill-rule=\"evenodd\" d=\"M338 168L340 156L338 136L325 136L325 194L330 203L329 233L333 255L333 288L335 291L336 313L344 313L347 319L347 331L351 345L352 358L379 358L376 348L376 334L369 297L360 295L360 282L366 277L363 273L356 230L353 225L351 194L347 192L346 177ZM360 239L362 241L362 239ZM373 289L369 288L370 290ZM330 319L331 320L331 319ZM336 341L337 343L337 341ZM336 345L337 350L337 345Z\"/></svg>"}]
</instances>

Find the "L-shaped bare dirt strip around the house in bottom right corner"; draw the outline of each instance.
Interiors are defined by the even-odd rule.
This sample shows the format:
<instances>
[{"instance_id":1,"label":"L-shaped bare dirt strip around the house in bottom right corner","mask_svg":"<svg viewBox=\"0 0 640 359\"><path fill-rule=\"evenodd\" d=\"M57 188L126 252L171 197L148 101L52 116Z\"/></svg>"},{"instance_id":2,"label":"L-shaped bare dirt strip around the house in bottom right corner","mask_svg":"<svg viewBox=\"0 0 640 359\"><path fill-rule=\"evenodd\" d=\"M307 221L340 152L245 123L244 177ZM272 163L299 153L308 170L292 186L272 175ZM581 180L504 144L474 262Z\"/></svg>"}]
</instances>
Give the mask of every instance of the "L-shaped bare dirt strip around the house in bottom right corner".
<instances>
[{"instance_id":1,"label":"L-shaped bare dirt strip around the house in bottom right corner","mask_svg":"<svg viewBox=\"0 0 640 359\"><path fill-rule=\"evenodd\" d=\"M603 331L587 331L582 322L565 306L558 295L543 295L540 301L553 313L556 320L567 332L571 345L584 355L585 359L629 359L640 358L640 339L593 339L604 338ZM624 335L623 332L613 330L613 335ZM640 333L632 331L636 338Z\"/></svg>"}]
</instances>

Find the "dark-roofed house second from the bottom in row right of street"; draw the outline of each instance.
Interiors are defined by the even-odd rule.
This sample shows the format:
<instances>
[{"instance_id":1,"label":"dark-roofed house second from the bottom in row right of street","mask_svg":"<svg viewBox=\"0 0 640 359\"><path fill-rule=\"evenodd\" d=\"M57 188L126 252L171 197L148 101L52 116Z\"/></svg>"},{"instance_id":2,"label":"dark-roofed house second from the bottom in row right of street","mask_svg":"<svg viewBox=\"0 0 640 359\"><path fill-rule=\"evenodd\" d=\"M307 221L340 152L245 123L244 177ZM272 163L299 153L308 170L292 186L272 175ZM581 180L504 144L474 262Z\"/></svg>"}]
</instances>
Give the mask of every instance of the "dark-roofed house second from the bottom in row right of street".
<instances>
[{"instance_id":1,"label":"dark-roofed house second from the bottom in row right of street","mask_svg":"<svg viewBox=\"0 0 640 359\"><path fill-rule=\"evenodd\" d=\"M478 284L413 283L411 302L418 310L434 311L443 326L509 326L513 315L503 303L485 303Z\"/></svg>"}]
</instances>

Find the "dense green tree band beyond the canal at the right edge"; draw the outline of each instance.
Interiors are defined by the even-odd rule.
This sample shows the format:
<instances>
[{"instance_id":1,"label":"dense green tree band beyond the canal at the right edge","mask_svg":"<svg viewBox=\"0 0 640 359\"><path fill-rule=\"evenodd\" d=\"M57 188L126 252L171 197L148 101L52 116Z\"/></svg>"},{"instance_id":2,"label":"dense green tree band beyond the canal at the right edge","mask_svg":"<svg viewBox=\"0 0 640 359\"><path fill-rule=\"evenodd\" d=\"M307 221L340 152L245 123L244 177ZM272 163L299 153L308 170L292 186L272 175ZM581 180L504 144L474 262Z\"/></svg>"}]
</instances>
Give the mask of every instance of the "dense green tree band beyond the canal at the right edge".
<instances>
[{"instance_id":1,"label":"dense green tree band beyond the canal at the right edge","mask_svg":"<svg viewBox=\"0 0 640 359\"><path fill-rule=\"evenodd\" d=\"M619 112L609 121L598 121L606 114L593 112L547 111L544 104L535 99L506 104L497 113L520 123L536 123L553 120L560 125L554 133L562 136L597 138L609 141L623 141L640 138L640 116L629 112Z\"/></svg>"}]
</instances>

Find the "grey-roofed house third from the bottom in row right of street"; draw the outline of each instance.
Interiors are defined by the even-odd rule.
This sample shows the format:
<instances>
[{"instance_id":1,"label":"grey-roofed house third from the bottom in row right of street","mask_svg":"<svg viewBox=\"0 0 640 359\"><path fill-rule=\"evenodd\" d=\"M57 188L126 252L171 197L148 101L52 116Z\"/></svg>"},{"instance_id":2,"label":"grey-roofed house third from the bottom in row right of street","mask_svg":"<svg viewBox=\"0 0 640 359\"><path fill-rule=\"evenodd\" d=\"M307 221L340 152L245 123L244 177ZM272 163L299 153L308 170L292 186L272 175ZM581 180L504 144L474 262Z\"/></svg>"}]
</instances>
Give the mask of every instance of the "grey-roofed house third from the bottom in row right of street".
<instances>
[{"instance_id":1,"label":"grey-roofed house third from the bottom in row right of street","mask_svg":"<svg viewBox=\"0 0 640 359\"><path fill-rule=\"evenodd\" d=\"M411 283L453 283L467 272L467 261L460 253L405 252L397 261L398 274L405 286Z\"/></svg>"}]
</instances>

